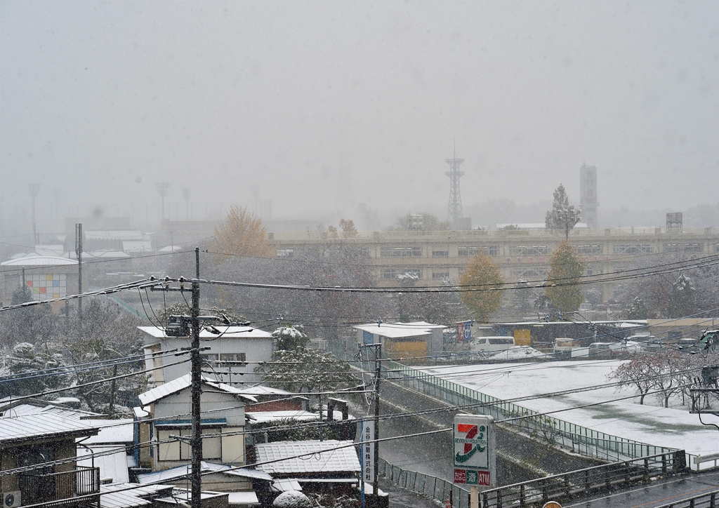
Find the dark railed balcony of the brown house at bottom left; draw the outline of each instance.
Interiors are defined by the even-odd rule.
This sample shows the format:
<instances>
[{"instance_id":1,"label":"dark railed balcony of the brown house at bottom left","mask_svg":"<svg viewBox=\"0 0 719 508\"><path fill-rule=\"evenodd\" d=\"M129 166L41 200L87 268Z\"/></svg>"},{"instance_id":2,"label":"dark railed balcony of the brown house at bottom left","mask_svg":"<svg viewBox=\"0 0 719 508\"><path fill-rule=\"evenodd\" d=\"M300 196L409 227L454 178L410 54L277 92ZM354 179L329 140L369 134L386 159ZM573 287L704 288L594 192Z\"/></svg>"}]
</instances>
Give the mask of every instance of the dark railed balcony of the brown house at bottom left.
<instances>
[{"instance_id":1,"label":"dark railed balcony of the brown house at bottom left","mask_svg":"<svg viewBox=\"0 0 719 508\"><path fill-rule=\"evenodd\" d=\"M22 506L100 506L100 468L76 467L61 473L21 474L19 487Z\"/></svg>"}]
</instances>

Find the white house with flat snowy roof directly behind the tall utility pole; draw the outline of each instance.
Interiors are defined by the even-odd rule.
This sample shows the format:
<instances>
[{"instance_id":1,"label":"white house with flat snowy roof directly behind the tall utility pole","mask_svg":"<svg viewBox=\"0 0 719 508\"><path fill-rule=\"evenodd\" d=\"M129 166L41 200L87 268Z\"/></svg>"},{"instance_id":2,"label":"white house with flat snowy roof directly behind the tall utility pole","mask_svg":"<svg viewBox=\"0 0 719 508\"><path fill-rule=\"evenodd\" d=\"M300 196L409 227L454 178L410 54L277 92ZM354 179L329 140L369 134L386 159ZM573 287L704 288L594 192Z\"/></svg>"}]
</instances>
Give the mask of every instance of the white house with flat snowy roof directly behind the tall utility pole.
<instances>
[{"instance_id":1,"label":"white house with flat snowy roof directly behind the tall utility pole","mask_svg":"<svg viewBox=\"0 0 719 508\"><path fill-rule=\"evenodd\" d=\"M188 374L190 364L178 364L175 351L180 351L189 344L188 336L175 336L167 329L158 326L139 326L145 333L145 368L162 369L151 371L148 385L160 386ZM260 374L255 374L255 364L246 362L270 361L273 354L274 340L271 333L251 326L203 326L200 331L203 347L201 356L211 364L211 372L221 374L227 382L260 382ZM172 351L172 353L170 353Z\"/></svg>"}]
</instances>

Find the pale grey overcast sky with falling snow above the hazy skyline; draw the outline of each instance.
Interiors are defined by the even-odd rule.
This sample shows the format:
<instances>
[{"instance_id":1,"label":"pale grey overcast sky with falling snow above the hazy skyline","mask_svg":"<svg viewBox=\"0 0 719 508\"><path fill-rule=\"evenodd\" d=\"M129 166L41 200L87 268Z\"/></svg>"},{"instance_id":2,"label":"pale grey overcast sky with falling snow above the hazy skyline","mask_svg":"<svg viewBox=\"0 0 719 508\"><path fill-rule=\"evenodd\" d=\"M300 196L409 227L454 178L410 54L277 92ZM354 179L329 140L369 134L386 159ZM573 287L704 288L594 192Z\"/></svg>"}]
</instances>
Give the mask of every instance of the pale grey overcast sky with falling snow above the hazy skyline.
<instances>
[{"instance_id":1,"label":"pale grey overcast sky with falling snow above the hazy skyline","mask_svg":"<svg viewBox=\"0 0 719 508\"><path fill-rule=\"evenodd\" d=\"M160 180L198 218L251 185L275 218L446 214L454 140L465 206L578 202L582 161L602 208L718 201L717 1L4 0L0 75L8 215Z\"/></svg>"}]
</instances>

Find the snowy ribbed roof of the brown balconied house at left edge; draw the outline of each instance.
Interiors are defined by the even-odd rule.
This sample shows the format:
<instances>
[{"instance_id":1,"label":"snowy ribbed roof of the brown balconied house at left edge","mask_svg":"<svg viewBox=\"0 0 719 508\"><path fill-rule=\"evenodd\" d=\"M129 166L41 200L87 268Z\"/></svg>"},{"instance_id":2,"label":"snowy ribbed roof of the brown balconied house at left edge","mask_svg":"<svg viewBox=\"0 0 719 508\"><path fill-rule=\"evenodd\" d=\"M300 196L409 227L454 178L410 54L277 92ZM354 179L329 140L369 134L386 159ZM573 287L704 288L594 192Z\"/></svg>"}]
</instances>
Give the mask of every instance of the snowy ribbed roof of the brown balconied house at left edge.
<instances>
[{"instance_id":1,"label":"snowy ribbed roof of the brown balconied house at left edge","mask_svg":"<svg viewBox=\"0 0 719 508\"><path fill-rule=\"evenodd\" d=\"M58 435L95 435L98 431L95 425L81 420L70 420L40 412L36 415L4 417L0 425L0 443Z\"/></svg>"}]
</instances>

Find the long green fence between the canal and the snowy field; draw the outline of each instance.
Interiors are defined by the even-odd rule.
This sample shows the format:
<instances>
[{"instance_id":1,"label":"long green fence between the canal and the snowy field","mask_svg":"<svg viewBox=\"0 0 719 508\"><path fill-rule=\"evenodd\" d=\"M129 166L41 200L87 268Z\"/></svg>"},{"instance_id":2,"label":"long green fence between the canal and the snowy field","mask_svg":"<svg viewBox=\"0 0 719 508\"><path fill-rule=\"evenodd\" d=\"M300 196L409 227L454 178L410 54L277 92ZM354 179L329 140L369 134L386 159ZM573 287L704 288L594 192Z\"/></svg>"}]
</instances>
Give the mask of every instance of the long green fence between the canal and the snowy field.
<instances>
[{"instance_id":1,"label":"long green fence between the canal and the snowy field","mask_svg":"<svg viewBox=\"0 0 719 508\"><path fill-rule=\"evenodd\" d=\"M393 382L422 392L452 405L464 407L463 411L479 415L490 415L497 421L513 417L521 420L508 422L512 428L544 440L551 445L580 453L584 456L599 458L606 461L626 461L645 456L656 456L673 453L675 448L650 445L639 441L620 438L615 435L582 427L571 422L559 420L548 415L540 415L511 402L505 402L477 390L464 387L441 377L413 369L395 361L385 362L386 376Z\"/></svg>"}]
</instances>

